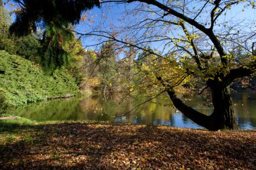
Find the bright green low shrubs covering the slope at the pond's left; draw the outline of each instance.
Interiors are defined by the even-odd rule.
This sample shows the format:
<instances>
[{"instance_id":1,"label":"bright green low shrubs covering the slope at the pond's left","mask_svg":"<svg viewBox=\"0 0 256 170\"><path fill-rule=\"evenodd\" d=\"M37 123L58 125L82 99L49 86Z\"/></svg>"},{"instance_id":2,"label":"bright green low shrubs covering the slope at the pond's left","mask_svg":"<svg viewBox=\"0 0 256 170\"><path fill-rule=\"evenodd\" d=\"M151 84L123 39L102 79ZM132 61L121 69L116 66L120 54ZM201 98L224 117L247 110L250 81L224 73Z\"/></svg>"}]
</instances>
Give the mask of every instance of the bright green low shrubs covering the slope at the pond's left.
<instances>
[{"instance_id":1,"label":"bright green low shrubs covering the slope at the pond's left","mask_svg":"<svg viewBox=\"0 0 256 170\"><path fill-rule=\"evenodd\" d=\"M8 105L77 95L75 79L65 69L45 75L39 65L0 51L0 93Z\"/></svg>"}]
</instances>

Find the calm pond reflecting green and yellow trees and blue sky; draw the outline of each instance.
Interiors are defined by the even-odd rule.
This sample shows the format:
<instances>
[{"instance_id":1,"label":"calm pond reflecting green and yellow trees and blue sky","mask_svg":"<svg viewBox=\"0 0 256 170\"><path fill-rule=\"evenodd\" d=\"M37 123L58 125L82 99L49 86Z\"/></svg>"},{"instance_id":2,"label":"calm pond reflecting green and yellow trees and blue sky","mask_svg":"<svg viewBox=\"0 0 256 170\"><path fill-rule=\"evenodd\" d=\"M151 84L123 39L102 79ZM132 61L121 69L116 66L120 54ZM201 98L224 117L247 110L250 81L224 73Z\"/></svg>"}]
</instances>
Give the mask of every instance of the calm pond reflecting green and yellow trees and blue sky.
<instances>
[{"instance_id":1,"label":"calm pond reflecting green and yellow trees and blue sky","mask_svg":"<svg viewBox=\"0 0 256 170\"><path fill-rule=\"evenodd\" d=\"M242 129L256 129L256 93L234 93L234 110ZM183 97L185 102L203 114L210 115L212 107L203 97ZM203 128L176 110L166 95L146 101L145 97L113 95L103 99L100 95L71 97L32 103L15 108L15 114L30 120L92 120L125 122L131 124L160 124L182 128ZM139 107L135 108L135 106ZM131 111L132 112L129 112Z\"/></svg>"}]
</instances>

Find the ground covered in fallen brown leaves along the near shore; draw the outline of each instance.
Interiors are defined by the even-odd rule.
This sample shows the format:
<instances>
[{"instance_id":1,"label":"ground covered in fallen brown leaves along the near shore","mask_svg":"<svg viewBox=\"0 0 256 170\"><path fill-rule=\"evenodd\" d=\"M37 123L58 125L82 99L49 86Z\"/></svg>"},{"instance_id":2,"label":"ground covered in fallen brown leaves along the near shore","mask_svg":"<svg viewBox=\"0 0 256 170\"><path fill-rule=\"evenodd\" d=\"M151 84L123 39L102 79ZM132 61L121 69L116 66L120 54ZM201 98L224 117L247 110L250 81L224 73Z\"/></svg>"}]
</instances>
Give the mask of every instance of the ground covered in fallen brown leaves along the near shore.
<instances>
[{"instance_id":1,"label":"ground covered in fallen brown leaves along the near shore","mask_svg":"<svg viewBox=\"0 0 256 170\"><path fill-rule=\"evenodd\" d=\"M0 124L0 169L256 169L256 130Z\"/></svg>"}]
</instances>

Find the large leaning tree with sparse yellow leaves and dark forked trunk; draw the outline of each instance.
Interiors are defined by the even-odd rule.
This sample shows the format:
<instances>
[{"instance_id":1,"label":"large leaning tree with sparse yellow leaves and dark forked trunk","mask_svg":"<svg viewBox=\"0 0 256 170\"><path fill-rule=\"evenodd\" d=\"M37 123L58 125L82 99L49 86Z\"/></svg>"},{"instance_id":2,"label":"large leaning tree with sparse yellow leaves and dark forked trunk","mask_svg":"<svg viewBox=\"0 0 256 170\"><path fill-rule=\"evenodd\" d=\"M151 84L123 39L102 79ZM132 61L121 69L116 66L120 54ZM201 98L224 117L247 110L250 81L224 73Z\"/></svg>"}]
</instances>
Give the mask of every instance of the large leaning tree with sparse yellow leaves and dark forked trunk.
<instances>
[{"instance_id":1,"label":"large leaning tree with sparse yellow leaves and dark forked trunk","mask_svg":"<svg viewBox=\"0 0 256 170\"><path fill-rule=\"evenodd\" d=\"M247 22L249 19L241 22L238 18L226 18L226 13L234 5L254 8L253 2L117 0L104 3L133 4L126 7L133 22L123 28L119 26L115 34L94 30L84 35L101 34L124 47L133 46L168 59L170 65L182 67L187 76L199 77L205 81L205 89L212 93L214 111L210 116L194 110L177 97L174 85L164 77L170 69L152 70L174 106L185 116L209 130L238 129L230 84L255 73L255 55L251 50L255 28L253 22ZM129 42L128 36L132 36L134 43ZM161 52L150 50L150 44L162 44ZM181 81L183 79L181 77Z\"/></svg>"}]
</instances>

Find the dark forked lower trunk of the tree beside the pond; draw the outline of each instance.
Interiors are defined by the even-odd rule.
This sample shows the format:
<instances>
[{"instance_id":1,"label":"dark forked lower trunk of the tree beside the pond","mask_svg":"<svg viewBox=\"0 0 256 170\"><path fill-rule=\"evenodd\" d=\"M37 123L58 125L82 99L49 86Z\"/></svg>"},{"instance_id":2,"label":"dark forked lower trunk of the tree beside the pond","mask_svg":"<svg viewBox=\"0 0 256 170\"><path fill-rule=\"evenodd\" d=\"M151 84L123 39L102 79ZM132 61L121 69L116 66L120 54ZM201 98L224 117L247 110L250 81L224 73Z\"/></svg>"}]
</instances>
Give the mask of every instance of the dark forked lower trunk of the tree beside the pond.
<instances>
[{"instance_id":1,"label":"dark forked lower trunk of the tree beside the pond","mask_svg":"<svg viewBox=\"0 0 256 170\"><path fill-rule=\"evenodd\" d=\"M208 130L238 129L229 86L224 88L221 88L220 85L211 86L212 102L214 104L214 112L211 116L201 114L187 106L177 97L177 95L175 95L173 89L167 89L166 91L174 106L196 124L199 124Z\"/></svg>"}]
</instances>

